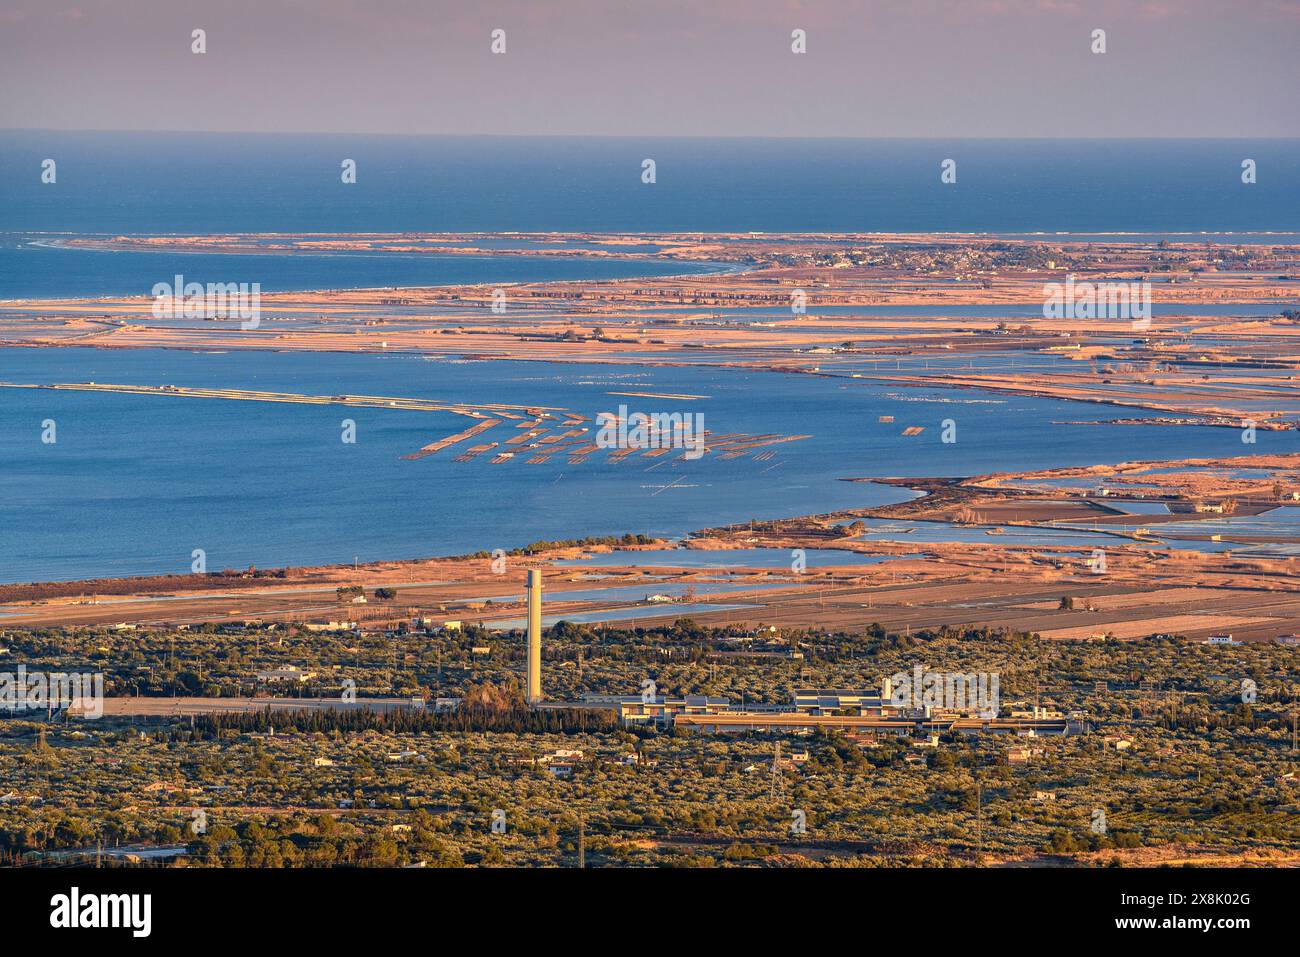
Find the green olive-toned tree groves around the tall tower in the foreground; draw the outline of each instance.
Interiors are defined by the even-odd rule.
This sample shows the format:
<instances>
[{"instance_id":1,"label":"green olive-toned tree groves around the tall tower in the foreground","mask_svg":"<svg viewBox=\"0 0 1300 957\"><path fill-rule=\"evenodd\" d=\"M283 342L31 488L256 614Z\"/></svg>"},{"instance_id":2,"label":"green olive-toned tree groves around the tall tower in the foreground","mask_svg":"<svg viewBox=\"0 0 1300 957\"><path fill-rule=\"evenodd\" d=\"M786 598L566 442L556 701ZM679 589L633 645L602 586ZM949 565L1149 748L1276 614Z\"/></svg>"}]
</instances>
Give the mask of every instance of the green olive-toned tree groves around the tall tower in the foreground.
<instances>
[{"instance_id":1,"label":"green olive-toned tree groves around the tall tower in the foreground","mask_svg":"<svg viewBox=\"0 0 1300 957\"><path fill-rule=\"evenodd\" d=\"M489 640L490 655L472 653ZM764 629L758 648L770 657L734 654L755 642L753 631L685 619L649 629L560 623L546 642L546 692L636 693L651 677L667 694L786 703L796 688L872 688L923 664L996 672L1004 710L1082 709L1093 731L945 733L930 746L629 729L608 711L521 707L521 636L474 625L364 636L10 629L4 661L103 671L109 694L265 694L257 671L296 664L316 676L291 694L335 697L347 679L361 696L463 697L465 706L0 719L0 862L183 845L172 866L576 866L580 820L588 866L948 866L980 852L987 861L1089 865L1300 856L1295 648L1045 642L965 628L905 636L870 625ZM1249 703L1244 679L1257 689ZM1122 744L1131 746L1117 750ZM494 809L506 811L503 835L490 830ZM1097 809L1104 832L1093 828ZM207 815L202 833L191 830L195 810ZM806 817L805 835L790 833L793 810Z\"/></svg>"}]
</instances>

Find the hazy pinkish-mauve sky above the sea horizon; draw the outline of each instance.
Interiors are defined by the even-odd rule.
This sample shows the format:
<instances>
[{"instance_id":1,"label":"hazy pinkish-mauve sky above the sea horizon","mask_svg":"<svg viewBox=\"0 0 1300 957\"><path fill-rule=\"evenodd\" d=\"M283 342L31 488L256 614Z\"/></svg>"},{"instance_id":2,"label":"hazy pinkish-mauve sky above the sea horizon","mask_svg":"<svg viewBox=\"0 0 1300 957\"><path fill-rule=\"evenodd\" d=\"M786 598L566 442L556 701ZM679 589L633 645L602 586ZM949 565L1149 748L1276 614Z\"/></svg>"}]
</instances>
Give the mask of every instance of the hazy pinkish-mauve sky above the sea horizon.
<instances>
[{"instance_id":1,"label":"hazy pinkish-mauve sky above the sea horizon","mask_svg":"<svg viewBox=\"0 0 1300 957\"><path fill-rule=\"evenodd\" d=\"M1300 0L0 0L0 127L1296 137L1297 49Z\"/></svg>"}]
</instances>

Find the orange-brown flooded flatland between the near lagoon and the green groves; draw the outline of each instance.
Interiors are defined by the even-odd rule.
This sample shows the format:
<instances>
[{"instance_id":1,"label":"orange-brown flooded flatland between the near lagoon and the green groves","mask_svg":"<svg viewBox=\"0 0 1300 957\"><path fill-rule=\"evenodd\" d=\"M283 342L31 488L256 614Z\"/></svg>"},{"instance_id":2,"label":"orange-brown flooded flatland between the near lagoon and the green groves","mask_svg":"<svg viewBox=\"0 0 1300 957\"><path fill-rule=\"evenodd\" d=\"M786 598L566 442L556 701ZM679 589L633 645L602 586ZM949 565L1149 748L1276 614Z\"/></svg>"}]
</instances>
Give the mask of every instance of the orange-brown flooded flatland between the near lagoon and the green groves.
<instances>
[{"instance_id":1,"label":"orange-brown flooded flatland between the near lagoon and the green groves","mask_svg":"<svg viewBox=\"0 0 1300 957\"><path fill-rule=\"evenodd\" d=\"M1152 516L1124 514L1115 507L1126 501L1165 501L1175 505L1184 502L1188 518L1197 518L1191 514L1191 505L1202 501L1200 495L1205 489L1222 484L1219 473L1223 469L1234 469L1247 463L1258 467L1261 458L1235 456L1182 463L1139 460L1104 469L1066 468L1028 475L1028 478L1037 482L1069 480L1080 473L1100 481L1106 481L1108 477L1112 481L1123 481L1124 476L1143 477L1156 469L1167 489L1158 498L1145 492L1139 492L1136 498L1132 498L1135 493L1126 493L1119 485L1114 486L1108 497L1096 494L1080 497L1076 493L1050 495L1041 489L1017 488L1014 482L1024 481L1024 473L945 480L889 478L880 481L909 489L918 493L916 497L874 508L849 508L742 527L697 529L680 541L646 540L629 544L611 538L592 540L588 544L550 542L502 553L500 557L462 554L378 560L358 566L332 564L263 568L256 572L226 571L211 575L0 585L0 603L4 603L5 612L5 618L0 620L16 625L70 622L88 624L110 622L125 612L131 612L134 618L130 620L142 623L178 620L239 623L248 620L250 615L257 620L292 622L303 620L304 610L308 612L308 620L312 615L320 620L322 615L330 614L333 606L335 616L364 614L369 620L391 623L400 618L403 612L399 607L404 607L406 602L426 603L430 601L429 596L433 596L432 601L443 609L441 614L445 619L471 615L473 620L491 622L517 616L523 592L519 593L519 601L503 601L499 593L508 592L524 570L540 568L547 576L549 603L554 609L554 615L562 619L566 614L578 615L578 620L582 620L582 615L595 615L595 620L601 620L602 614L627 618L628 611L640 609L633 612L636 620L659 622L680 618L682 612L679 609L694 607L690 605L690 596L697 585L692 583L716 581L720 570L727 570L724 580L731 585L725 592L727 598L732 602L740 598L745 603L724 603L716 609L699 606L701 611L693 616L706 623L753 623L755 615L759 615L759 622L798 615L803 614L800 610L806 607L810 594L822 596L818 601L824 603L828 588L840 592L848 589L846 596L854 592L876 594L876 598L871 599L872 603L880 603L884 609L890 593L898 592L906 596L913 589L920 588L927 596L932 596L918 606L920 614L933 616L939 614L939 609L948 607L945 614L956 614L956 620L963 620L963 615L970 619L974 614L974 619L970 620L978 622L976 609L961 602L970 585L983 583L998 593L1006 592L1008 597L996 605L1009 602L1009 607L1014 610L1031 607L1018 605L1014 596L1022 596L1020 602L1034 599L1043 594L1043 583L1053 580L1060 584L1049 585L1049 593L1052 588L1082 586L1084 596L1092 596L1088 597L1089 607L1101 602L1101 598L1095 596L1114 597L1132 593L1134 601L1119 602L1112 611L1110 628L1115 629L1124 627L1124 623L1135 616L1145 624L1145 622L1158 622L1161 615L1173 614L1164 609L1164 603L1169 601L1162 597L1165 593L1145 590L1148 563L1158 559L1166 564L1162 588L1170 596L1179 594L1179 589L1188 593L1192 605L1188 606L1188 612L1178 616L1179 622L1186 622L1184 627L1200 623L1199 629L1210 633L1231 619L1247 629L1248 640L1271 640L1270 632L1278 627L1275 619L1252 618L1244 609L1252 601L1256 603L1261 601L1251 598L1252 594L1266 594L1270 602L1274 605L1280 602L1279 607L1290 609L1287 614L1300 620L1300 583L1292 573L1295 558L1287 555L1235 558L1225 564L1222 555L1213 551L1200 553L1195 547L1183 551L1170 550L1152 537L1153 532L1156 536L1160 533L1160 524ZM1300 468L1300 452L1273 456L1271 464L1283 471ZM1256 506L1256 514L1275 507L1268 503L1269 481L1268 477L1239 480L1238 501L1248 503L1254 494L1261 499ZM1126 494L1130 498L1126 499ZM1009 545L996 538L987 540L987 544L909 541L905 527L898 527L888 540L872 541L845 528L854 521L881 519L896 521L901 519L918 527L942 528L953 523L953 516L963 514L970 518L961 519L958 525L962 521L970 523L966 527L974 532L989 528L989 523L1010 523L1014 528L1026 532L1037 531L1049 538L1060 532L1084 531L1088 534L1109 536L1119 541L1106 547L1110 567L1102 584L1093 577L1093 570L1089 568L1091 559L1080 559L1078 545L1032 542ZM1242 514L1251 512L1247 510ZM1213 516L1201 518L1208 520ZM1097 524L1101 520L1110 524L1101 527ZM1092 528L1088 528L1089 521ZM1205 541L1209 541L1209 533L1205 533ZM1292 541L1300 540L1292 538ZM681 562L675 562L664 554L666 549L668 554L680 554ZM759 564L748 562L746 555L754 549L770 551L774 558L777 554L798 557L809 550L819 555L829 550L840 553L842 558L833 564L819 564L814 559L806 570L800 570L798 560L793 560L789 563L794 568L792 573L780 564L785 559ZM656 558L654 564L646 566L644 557L647 553L663 558ZM728 562L728 554L734 554L737 560ZM696 555L705 555L710 560L699 564ZM861 562L854 560L854 557L861 557ZM627 560L619 560L620 558ZM508 563L504 575L497 567L499 562ZM588 570L586 573L582 572L584 568ZM601 570L602 573L593 575L595 570ZM963 583L962 588L956 588L956 581ZM645 589L646 603L629 605L627 597L621 601L612 598L602 601L601 596L606 589L612 589L611 596L625 594L628 592L625 585L632 583ZM685 597L677 598L676 606L673 602L659 606L649 602L649 596L655 589L670 588L664 583L681 583L675 588L685 589L680 592ZM350 611L344 606L326 601L335 588L343 585L364 589L389 588L407 597L402 599L399 607ZM718 586L708 585L708 588ZM1235 594L1238 598L1234 598L1232 603L1244 602L1243 611L1236 612L1235 618L1228 615L1228 619L1214 618L1208 612L1192 612L1199 594L1196 589L1219 589L1223 596ZM577 603L567 601L566 592L580 596L581 601ZM484 605L482 596L491 594L498 594L498 598ZM451 596L460 597L452 601ZM896 614L904 614L914 607L911 601L894 599L894 603ZM602 612L601 609L607 611ZM850 609L852 603L844 611ZM844 611L838 614L842 615ZM1087 615L1084 620L1088 620ZM1071 627L1076 625L1066 623L1063 629L1058 627L1057 631L1061 631L1063 637L1072 633ZM1084 625L1088 627L1097 625Z\"/></svg>"}]
</instances>

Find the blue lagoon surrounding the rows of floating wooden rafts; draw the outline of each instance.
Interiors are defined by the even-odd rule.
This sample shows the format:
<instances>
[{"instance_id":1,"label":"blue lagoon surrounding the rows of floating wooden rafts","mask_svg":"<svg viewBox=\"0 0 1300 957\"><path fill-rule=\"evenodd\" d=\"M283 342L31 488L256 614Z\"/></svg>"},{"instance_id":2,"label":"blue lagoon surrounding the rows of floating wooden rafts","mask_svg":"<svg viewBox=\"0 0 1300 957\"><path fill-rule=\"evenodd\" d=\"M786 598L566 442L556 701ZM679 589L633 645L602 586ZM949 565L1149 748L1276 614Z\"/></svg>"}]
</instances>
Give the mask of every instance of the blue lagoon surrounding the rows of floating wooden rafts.
<instances>
[{"instance_id":1,"label":"blue lagoon surrounding the rows of floating wooden rafts","mask_svg":"<svg viewBox=\"0 0 1300 957\"><path fill-rule=\"evenodd\" d=\"M467 420L451 413L0 389L0 581L185 572L194 549L216 570L508 550L586 534L680 536L909 494L840 481L846 477L1242 449L1230 429L1052 424L1096 417L1096 406L1079 403L708 367L5 348L0 380L543 404L577 411L592 428L598 412L629 402L611 393L671 393L708 397L673 404L701 412L716 433L812 436L777 446L776 458L762 463L707 455L615 464L598 452L581 465L563 455L542 465L493 465L486 456L400 458L464 429ZM883 425L880 415L896 423ZM940 441L946 417L957 421L953 445ZM47 419L57 424L55 445L40 442ZM341 441L343 419L356 421L355 445ZM913 424L926 432L902 437ZM1261 452L1297 447L1286 432L1260 433L1258 442Z\"/></svg>"}]
</instances>

